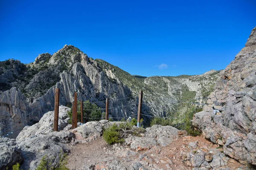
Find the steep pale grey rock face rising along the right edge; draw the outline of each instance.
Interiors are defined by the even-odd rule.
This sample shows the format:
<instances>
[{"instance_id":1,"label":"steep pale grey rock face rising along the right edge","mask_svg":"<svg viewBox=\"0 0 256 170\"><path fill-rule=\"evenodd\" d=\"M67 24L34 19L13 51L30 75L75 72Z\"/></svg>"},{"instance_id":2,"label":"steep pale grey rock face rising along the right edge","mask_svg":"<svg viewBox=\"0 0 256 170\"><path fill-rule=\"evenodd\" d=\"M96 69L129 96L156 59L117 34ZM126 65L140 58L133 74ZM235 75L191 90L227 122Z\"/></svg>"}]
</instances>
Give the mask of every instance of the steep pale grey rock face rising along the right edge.
<instances>
[{"instance_id":1,"label":"steep pale grey rock face rising along the right edge","mask_svg":"<svg viewBox=\"0 0 256 170\"><path fill-rule=\"evenodd\" d=\"M245 47L219 74L204 111L196 113L193 125L224 153L256 165L256 28ZM215 115L212 106L221 113ZM212 165L211 165L212 166Z\"/></svg>"}]
</instances>

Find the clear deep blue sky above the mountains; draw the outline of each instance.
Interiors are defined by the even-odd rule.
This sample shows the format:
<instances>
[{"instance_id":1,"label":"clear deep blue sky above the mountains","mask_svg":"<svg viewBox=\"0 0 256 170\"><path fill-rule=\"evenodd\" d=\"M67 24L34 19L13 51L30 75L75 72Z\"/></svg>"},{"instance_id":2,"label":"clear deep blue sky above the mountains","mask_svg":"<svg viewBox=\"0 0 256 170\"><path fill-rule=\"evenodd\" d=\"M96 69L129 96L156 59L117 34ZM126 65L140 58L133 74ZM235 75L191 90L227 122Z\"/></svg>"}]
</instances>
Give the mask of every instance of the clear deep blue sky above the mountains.
<instances>
[{"instance_id":1,"label":"clear deep blue sky above the mountains","mask_svg":"<svg viewBox=\"0 0 256 170\"><path fill-rule=\"evenodd\" d=\"M203 74L244 47L255 9L255 0L0 0L0 61L71 44L130 74Z\"/></svg>"}]
</instances>

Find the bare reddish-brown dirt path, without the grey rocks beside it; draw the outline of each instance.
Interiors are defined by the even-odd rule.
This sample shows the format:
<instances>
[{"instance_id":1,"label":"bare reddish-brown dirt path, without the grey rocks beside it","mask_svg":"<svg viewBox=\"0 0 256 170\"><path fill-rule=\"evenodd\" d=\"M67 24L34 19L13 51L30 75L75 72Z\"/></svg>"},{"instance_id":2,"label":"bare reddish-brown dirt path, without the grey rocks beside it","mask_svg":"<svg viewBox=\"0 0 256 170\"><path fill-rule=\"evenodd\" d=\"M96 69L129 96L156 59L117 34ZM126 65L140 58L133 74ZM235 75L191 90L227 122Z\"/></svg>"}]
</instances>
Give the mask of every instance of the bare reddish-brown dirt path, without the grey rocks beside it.
<instances>
[{"instance_id":1,"label":"bare reddish-brown dirt path, without the grey rocks beside it","mask_svg":"<svg viewBox=\"0 0 256 170\"><path fill-rule=\"evenodd\" d=\"M195 150L189 149L189 142L196 141L198 142L198 147ZM156 146L150 150L135 151L125 144L109 145L101 138L86 144L70 146L71 153L67 156L67 167L70 170L87 170L90 165L95 165L94 168L96 170L101 170L102 168L111 169L108 163L118 161L116 164L122 164L124 167L140 163L149 170L192 170L192 167L184 162L181 153L195 152L198 149L207 152L209 149L217 147L217 145L212 144L212 142L201 136L179 136L177 140L167 147ZM221 148L219 150L221 151ZM143 157L143 154L147 156ZM233 159L228 161L226 167L231 170L236 170L238 167L244 168ZM145 168L140 168L140 170L146 170ZM112 169L119 169L119 167L117 165L116 168L112 166Z\"/></svg>"}]
</instances>

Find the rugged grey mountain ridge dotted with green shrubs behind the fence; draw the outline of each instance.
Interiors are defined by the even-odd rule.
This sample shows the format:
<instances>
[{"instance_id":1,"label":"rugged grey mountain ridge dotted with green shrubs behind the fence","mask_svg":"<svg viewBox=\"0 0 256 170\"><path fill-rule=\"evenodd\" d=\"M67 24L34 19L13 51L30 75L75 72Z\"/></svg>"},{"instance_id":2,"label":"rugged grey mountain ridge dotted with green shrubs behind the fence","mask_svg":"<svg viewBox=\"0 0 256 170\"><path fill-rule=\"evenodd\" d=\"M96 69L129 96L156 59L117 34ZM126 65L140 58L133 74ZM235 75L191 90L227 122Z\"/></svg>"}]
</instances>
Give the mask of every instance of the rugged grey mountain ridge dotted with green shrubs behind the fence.
<instances>
[{"instance_id":1,"label":"rugged grey mountain ridge dotted with green shrubs behind the fence","mask_svg":"<svg viewBox=\"0 0 256 170\"><path fill-rule=\"evenodd\" d=\"M183 116L193 103L206 101L201 98L213 90L218 73L132 76L102 59L88 57L73 45L65 45L53 55L40 54L29 64L9 59L0 62L0 131L6 134L19 129L13 134L17 136L28 122L38 122L53 110L55 88L60 88L60 105L70 105L75 92L78 100L97 102L101 108L108 97L113 117L136 114L138 94L143 90L144 114Z\"/></svg>"}]
</instances>

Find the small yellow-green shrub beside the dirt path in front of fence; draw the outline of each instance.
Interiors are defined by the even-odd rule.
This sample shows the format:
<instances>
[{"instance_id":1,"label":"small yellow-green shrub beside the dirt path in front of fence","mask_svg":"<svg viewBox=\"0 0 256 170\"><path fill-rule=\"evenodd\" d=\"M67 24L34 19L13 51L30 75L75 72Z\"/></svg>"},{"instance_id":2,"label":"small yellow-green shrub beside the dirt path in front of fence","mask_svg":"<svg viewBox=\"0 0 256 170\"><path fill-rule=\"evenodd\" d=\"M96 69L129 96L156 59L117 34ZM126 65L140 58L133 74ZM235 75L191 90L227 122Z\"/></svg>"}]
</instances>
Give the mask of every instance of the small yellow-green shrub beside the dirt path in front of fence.
<instances>
[{"instance_id":1,"label":"small yellow-green shrub beside the dirt path in front of fence","mask_svg":"<svg viewBox=\"0 0 256 170\"><path fill-rule=\"evenodd\" d=\"M121 138L120 134L120 127L114 123L111 127L108 127L103 133L103 139L108 144L114 144L114 143L122 143L124 142L124 139Z\"/></svg>"}]
</instances>

